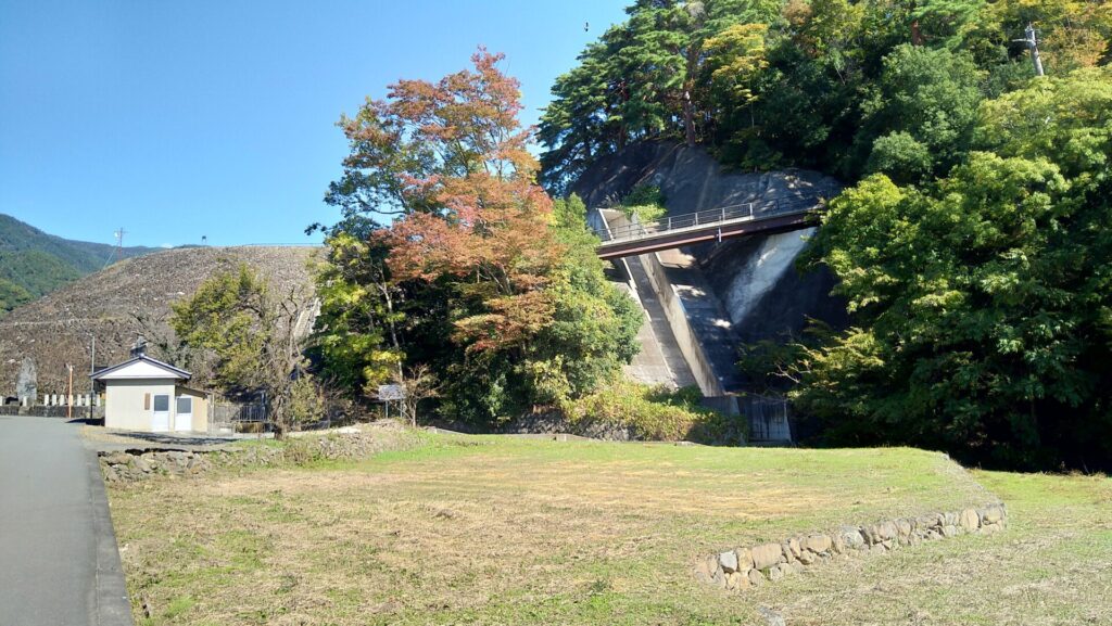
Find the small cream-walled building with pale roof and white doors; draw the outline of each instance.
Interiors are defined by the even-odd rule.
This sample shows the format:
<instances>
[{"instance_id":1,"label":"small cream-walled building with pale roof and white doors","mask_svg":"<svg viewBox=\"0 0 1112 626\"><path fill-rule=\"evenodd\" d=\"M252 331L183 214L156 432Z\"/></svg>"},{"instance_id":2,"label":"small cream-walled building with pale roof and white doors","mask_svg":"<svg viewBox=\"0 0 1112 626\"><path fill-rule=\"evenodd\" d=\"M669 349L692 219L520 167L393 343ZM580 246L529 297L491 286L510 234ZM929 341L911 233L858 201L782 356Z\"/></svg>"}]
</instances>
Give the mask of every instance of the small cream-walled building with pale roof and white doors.
<instances>
[{"instance_id":1,"label":"small cream-walled building with pale roof and white doors","mask_svg":"<svg viewBox=\"0 0 1112 626\"><path fill-rule=\"evenodd\" d=\"M208 431L208 394L183 369L139 355L92 375L105 388L105 426L145 433Z\"/></svg>"}]
</instances>

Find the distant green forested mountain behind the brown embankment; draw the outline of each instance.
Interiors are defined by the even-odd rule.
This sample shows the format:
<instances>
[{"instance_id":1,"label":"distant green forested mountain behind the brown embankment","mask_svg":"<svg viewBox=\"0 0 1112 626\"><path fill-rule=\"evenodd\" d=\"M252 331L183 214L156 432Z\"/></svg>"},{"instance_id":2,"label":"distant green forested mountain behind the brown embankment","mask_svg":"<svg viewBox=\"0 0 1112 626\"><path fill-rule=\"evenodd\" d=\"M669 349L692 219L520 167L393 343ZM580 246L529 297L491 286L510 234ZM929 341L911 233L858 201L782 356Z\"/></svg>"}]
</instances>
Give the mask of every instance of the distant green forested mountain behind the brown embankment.
<instances>
[{"instance_id":1,"label":"distant green forested mountain behind the brown embankment","mask_svg":"<svg viewBox=\"0 0 1112 626\"><path fill-rule=\"evenodd\" d=\"M123 248L122 258L155 251ZM0 316L105 267L113 247L47 235L0 213Z\"/></svg>"}]
</instances>

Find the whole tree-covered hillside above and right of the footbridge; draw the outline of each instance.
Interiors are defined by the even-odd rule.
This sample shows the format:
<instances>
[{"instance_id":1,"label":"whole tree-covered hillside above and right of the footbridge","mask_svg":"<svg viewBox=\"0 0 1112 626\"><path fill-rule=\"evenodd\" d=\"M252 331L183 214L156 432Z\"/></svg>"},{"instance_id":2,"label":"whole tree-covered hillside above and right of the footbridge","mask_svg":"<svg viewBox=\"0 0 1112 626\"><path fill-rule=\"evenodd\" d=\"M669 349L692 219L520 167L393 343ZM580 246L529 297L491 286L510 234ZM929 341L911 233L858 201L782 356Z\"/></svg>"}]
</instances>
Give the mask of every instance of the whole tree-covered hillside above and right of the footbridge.
<instances>
[{"instance_id":1,"label":"whole tree-covered hillside above and right of the footbridge","mask_svg":"<svg viewBox=\"0 0 1112 626\"><path fill-rule=\"evenodd\" d=\"M744 367L790 380L830 443L1110 466L1110 3L642 0L627 13L553 88L550 191L658 139L834 175L847 189L807 259L840 279L853 327L751 346Z\"/></svg>"}]
</instances>

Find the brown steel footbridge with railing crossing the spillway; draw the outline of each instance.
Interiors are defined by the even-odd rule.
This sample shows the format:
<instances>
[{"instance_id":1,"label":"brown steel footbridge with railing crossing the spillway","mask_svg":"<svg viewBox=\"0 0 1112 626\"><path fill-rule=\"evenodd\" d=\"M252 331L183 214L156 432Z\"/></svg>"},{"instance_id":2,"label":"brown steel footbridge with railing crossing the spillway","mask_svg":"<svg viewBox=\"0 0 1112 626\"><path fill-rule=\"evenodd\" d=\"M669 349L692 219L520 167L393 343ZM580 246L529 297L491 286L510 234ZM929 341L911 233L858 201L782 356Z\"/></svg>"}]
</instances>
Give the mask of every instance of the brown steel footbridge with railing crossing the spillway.
<instances>
[{"instance_id":1,"label":"brown steel footbridge with railing crossing the spillway","mask_svg":"<svg viewBox=\"0 0 1112 626\"><path fill-rule=\"evenodd\" d=\"M835 195L833 188L808 190L800 195L668 216L644 223L631 218L628 223L614 228L599 213L600 223L596 223L594 230L602 244L596 252L604 260L619 259L746 235L798 230L811 226L813 213Z\"/></svg>"}]
</instances>

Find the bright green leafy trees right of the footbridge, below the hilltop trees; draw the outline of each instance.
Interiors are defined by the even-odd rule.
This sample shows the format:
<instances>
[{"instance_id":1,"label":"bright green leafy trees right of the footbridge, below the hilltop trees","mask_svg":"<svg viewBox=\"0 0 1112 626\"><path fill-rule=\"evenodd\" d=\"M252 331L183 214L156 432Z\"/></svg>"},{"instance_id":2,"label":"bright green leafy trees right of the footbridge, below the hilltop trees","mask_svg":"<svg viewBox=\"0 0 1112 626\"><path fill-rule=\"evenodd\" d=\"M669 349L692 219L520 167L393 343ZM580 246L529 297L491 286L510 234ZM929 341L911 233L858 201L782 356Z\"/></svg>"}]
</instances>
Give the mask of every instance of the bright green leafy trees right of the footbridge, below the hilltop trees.
<instances>
[{"instance_id":1,"label":"bright green leafy trees right of the footbridge, below the hilltop trees","mask_svg":"<svg viewBox=\"0 0 1112 626\"><path fill-rule=\"evenodd\" d=\"M856 328L807 350L798 404L838 440L979 459L1112 458L1112 69L985 103L945 178L835 200L811 250Z\"/></svg>"}]
</instances>

